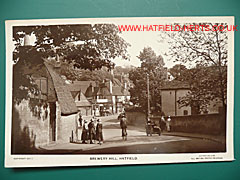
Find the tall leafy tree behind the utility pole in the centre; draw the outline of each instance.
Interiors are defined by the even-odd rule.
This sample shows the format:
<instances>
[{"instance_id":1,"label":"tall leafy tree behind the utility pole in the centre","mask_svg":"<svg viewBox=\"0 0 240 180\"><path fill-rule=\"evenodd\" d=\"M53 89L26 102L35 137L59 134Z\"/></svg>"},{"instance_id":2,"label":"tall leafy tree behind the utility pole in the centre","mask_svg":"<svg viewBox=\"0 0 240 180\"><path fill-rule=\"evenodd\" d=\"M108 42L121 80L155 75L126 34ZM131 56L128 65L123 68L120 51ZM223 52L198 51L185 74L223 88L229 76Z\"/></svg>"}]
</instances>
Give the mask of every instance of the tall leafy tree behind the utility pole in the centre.
<instances>
[{"instance_id":1,"label":"tall leafy tree behind the utility pole in the centre","mask_svg":"<svg viewBox=\"0 0 240 180\"><path fill-rule=\"evenodd\" d=\"M141 67L135 68L129 72L129 79L133 83L130 89L131 102L147 111L147 74L150 84L150 104L154 112L161 111L161 93L160 88L166 80L166 71L162 56L157 56L152 48L144 48L138 56L141 61Z\"/></svg>"}]
</instances>

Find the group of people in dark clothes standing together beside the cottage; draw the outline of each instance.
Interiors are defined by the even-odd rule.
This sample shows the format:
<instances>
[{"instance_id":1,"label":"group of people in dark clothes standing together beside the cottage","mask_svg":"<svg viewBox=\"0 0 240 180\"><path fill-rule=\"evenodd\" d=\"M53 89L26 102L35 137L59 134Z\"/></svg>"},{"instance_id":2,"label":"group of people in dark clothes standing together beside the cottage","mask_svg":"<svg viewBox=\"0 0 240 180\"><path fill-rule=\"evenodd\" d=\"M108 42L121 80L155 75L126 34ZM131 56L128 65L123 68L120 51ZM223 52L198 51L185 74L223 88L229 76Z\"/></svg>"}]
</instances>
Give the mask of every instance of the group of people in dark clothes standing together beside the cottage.
<instances>
[{"instance_id":1,"label":"group of people in dark clothes standing together beside the cottage","mask_svg":"<svg viewBox=\"0 0 240 180\"><path fill-rule=\"evenodd\" d=\"M90 122L88 122L80 116L79 122L82 127L81 140L83 144L87 144L88 141L90 141L90 144L94 144L96 141L98 141L100 145L103 143L103 125L100 119L93 117Z\"/></svg>"}]
</instances>

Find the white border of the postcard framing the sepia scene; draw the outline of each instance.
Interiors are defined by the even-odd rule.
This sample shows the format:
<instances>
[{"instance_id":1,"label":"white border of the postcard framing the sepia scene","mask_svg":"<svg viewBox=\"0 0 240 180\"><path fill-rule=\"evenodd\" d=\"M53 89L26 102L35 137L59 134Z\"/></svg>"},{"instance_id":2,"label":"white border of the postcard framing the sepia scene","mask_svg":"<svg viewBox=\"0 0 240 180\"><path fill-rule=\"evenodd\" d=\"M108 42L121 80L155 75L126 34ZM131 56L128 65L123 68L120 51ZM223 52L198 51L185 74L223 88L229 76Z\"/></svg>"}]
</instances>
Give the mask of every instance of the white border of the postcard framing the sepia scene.
<instances>
[{"instance_id":1,"label":"white border of the postcard framing the sepia scene","mask_svg":"<svg viewBox=\"0 0 240 180\"><path fill-rule=\"evenodd\" d=\"M12 28L23 25L60 25L86 23L116 24L171 24L198 22L226 22L234 25L234 17L148 17L148 18L84 18L84 19L39 19L6 21L6 111L5 111L5 167L93 166L123 164L160 164L209 161L233 161L233 109L234 109L234 32L229 32L227 132L225 153L178 153L178 154L123 154L123 155L11 155L12 119ZM134 32L132 32L134 33ZM147 32L146 32L147 33ZM99 158L99 160L90 160ZM126 158L127 160L119 160ZM129 160L128 158L135 158Z\"/></svg>"}]
</instances>

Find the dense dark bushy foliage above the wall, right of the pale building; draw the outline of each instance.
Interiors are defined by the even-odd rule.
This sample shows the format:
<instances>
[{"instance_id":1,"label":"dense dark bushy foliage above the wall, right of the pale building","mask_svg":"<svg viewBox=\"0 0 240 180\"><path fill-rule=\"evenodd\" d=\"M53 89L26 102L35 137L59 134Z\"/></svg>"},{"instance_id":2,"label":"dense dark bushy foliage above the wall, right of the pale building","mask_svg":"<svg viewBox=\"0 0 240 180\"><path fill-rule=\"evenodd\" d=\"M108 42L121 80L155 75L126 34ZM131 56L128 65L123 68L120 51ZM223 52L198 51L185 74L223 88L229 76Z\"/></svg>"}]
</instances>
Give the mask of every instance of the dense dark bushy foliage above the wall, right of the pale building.
<instances>
[{"instance_id":1,"label":"dense dark bushy foliage above the wall, right of the pale building","mask_svg":"<svg viewBox=\"0 0 240 180\"><path fill-rule=\"evenodd\" d=\"M184 65L177 64L169 72L174 80L181 81L190 88L188 94L178 100L180 107L191 106L192 114L200 114L207 111L211 101L216 100L216 95L213 94L218 81L216 68L198 65L188 69Z\"/></svg>"}]
</instances>

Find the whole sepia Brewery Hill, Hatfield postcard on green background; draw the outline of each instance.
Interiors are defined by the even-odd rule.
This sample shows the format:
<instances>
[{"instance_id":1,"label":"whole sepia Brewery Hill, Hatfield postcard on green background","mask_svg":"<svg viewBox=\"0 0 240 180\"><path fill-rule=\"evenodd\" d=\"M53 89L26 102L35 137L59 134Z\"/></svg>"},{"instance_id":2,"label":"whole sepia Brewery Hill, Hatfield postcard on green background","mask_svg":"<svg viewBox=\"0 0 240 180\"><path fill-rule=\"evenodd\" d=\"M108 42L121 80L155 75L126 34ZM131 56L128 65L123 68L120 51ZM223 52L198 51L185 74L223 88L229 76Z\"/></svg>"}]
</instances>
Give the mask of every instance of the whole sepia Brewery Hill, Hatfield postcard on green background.
<instances>
[{"instance_id":1,"label":"whole sepia Brewery Hill, Hatfield postcard on green background","mask_svg":"<svg viewBox=\"0 0 240 180\"><path fill-rule=\"evenodd\" d=\"M234 17L6 21L5 167L233 161Z\"/></svg>"}]
</instances>

